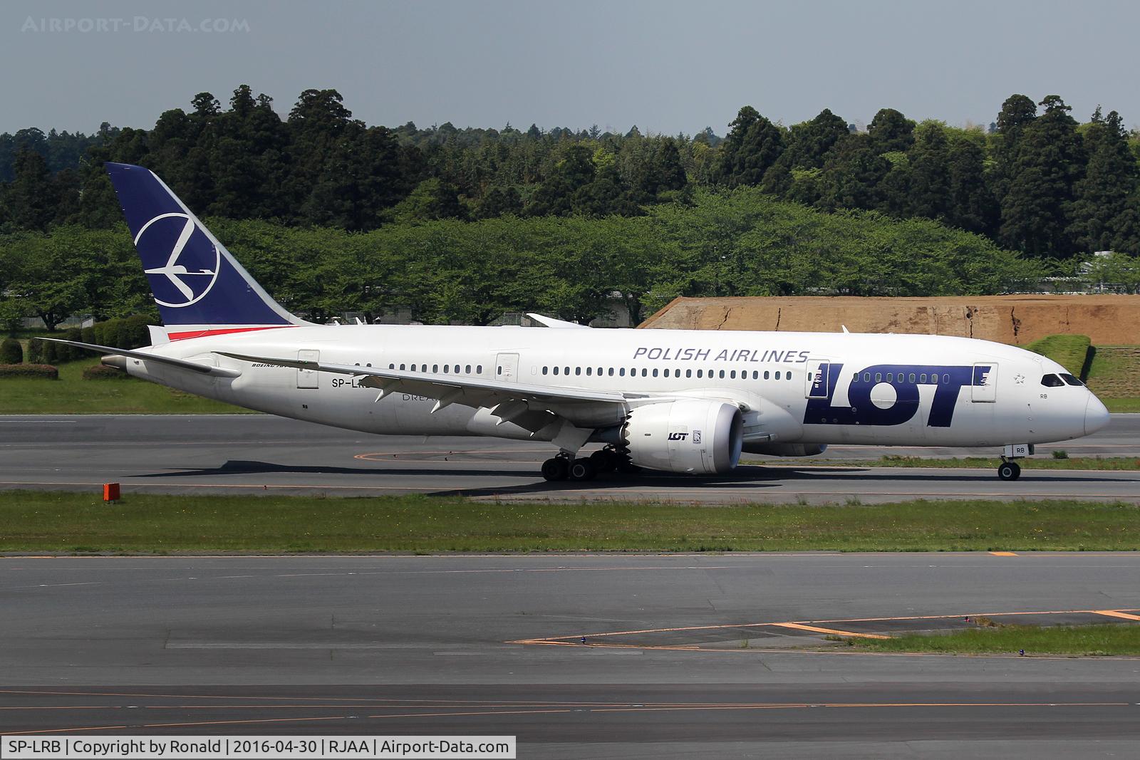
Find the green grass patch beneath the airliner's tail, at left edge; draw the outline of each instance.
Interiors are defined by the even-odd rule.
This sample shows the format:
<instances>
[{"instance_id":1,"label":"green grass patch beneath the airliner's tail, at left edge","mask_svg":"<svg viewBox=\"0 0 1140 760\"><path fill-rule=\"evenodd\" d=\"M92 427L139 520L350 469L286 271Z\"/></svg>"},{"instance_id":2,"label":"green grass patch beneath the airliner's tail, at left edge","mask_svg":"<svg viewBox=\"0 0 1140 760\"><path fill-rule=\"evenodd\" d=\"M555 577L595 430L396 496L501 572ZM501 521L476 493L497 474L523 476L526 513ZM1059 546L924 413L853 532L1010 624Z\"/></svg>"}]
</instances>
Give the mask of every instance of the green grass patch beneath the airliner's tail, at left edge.
<instances>
[{"instance_id":1,"label":"green grass patch beneath the airliner's tail, at left edge","mask_svg":"<svg viewBox=\"0 0 1140 760\"><path fill-rule=\"evenodd\" d=\"M98 358L59 365L59 379L0 377L2 415L190 415L253 414L228 403L148 383L83 379Z\"/></svg>"}]
</instances>

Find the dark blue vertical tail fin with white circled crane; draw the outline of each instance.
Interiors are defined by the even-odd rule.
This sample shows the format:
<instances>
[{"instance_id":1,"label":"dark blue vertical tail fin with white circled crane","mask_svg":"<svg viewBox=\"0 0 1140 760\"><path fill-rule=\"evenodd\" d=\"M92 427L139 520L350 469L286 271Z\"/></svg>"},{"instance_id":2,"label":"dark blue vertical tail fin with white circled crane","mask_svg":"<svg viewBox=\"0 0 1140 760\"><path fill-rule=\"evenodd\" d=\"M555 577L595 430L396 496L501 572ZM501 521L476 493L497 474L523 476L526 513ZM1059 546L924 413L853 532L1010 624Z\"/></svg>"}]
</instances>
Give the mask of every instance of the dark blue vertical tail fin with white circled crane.
<instances>
[{"instance_id":1,"label":"dark blue vertical tail fin with white circled crane","mask_svg":"<svg viewBox=\"0 0 1140 760\"><path fill-rule=\"evenodd\" d=\"M308 324L274 301L154 172L106 169L171 340Z\"/></svg>"}]
</instances>

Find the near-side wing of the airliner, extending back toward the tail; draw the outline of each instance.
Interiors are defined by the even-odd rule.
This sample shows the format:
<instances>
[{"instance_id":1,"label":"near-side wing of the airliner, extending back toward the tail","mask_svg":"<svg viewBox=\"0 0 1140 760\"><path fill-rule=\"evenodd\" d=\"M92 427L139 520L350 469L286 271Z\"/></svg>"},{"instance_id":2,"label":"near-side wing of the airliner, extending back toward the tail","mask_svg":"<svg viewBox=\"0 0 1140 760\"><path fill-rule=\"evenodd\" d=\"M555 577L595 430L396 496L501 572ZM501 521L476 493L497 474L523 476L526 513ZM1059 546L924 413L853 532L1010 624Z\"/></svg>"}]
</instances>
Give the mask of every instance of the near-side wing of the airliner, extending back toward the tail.
<instances>
[{"instance_id":1,"label":"near-side wing of the airliner, extending back toward the tail","mask_svg":"<svg viewBox=\"0 0 1140 760\"><path fill-rule=\"evenodd\" d=\"M551 415L563 417L571 424L581 427L617 424L625 418L630 400L646 398L646 394L641 393L552 387L463 375L414 373L358 365L329 365L319 361L253 357L225 351L215 351L214 353L253 363L352 375L363 378L359 381L360 385L378 391L377 401L389 393L414 393L435 399L432 412L453 403L474 408L486 407L491 409L491 414L499 417L502 422L514 422L535 431L548 425L552 422Z\"/></svg>"}]
</instances>

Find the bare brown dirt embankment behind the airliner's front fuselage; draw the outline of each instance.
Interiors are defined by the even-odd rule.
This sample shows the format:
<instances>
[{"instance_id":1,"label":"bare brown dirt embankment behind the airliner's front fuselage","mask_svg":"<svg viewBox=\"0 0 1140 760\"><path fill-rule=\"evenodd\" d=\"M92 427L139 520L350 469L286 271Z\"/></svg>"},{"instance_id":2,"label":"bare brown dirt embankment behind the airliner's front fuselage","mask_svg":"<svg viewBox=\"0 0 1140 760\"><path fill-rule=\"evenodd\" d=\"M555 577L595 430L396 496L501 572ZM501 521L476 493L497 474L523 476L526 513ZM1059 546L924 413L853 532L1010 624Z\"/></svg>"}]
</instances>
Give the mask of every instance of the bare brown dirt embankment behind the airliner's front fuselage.
<instances>
[{"instance_id":1,"label":"bare brown dirt embankment behind the airliner's front fuselage","mask_svg":"<svg viewBox=\"0 0 1140 760\"><path fill-rule=\"evenodd\" d=\"M641 327L915 333L1020 345L1088 335L1093 345L1140 344L1140 295L991 295L945 299L675 299Z\"/></svg>"}]
</instances>

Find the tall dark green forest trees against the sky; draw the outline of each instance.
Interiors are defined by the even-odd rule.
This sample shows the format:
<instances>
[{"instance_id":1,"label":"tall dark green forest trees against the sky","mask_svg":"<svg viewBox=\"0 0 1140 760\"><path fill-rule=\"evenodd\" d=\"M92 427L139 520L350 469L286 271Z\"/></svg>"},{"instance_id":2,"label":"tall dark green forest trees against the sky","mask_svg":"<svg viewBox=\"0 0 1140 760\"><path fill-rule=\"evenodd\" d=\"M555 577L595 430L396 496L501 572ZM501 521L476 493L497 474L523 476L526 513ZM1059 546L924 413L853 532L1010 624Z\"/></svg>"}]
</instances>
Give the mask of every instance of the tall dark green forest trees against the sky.
<instances>
[{"instance_id":1,"label":"tall dark green forest trees against the sky","mask_svg":"<svg viewBox=\"0 0 1140 760\"><path fill-rule=\"evenodd\" d=\"M531 125L368 126L335 90L209 92L149 130L0 134L0 231L106 229L104 161L160 173L199 214L372 230L437 219L635 216L695 188L758 187L823 211L921 216L1033 258L1140 252L1140 138L1116 112L1084 123L1058 96L1009 97L988 130L880 109L865 130L824 109L785 128L750 106L724 139Z\"/></svg>"}]
</instances>

